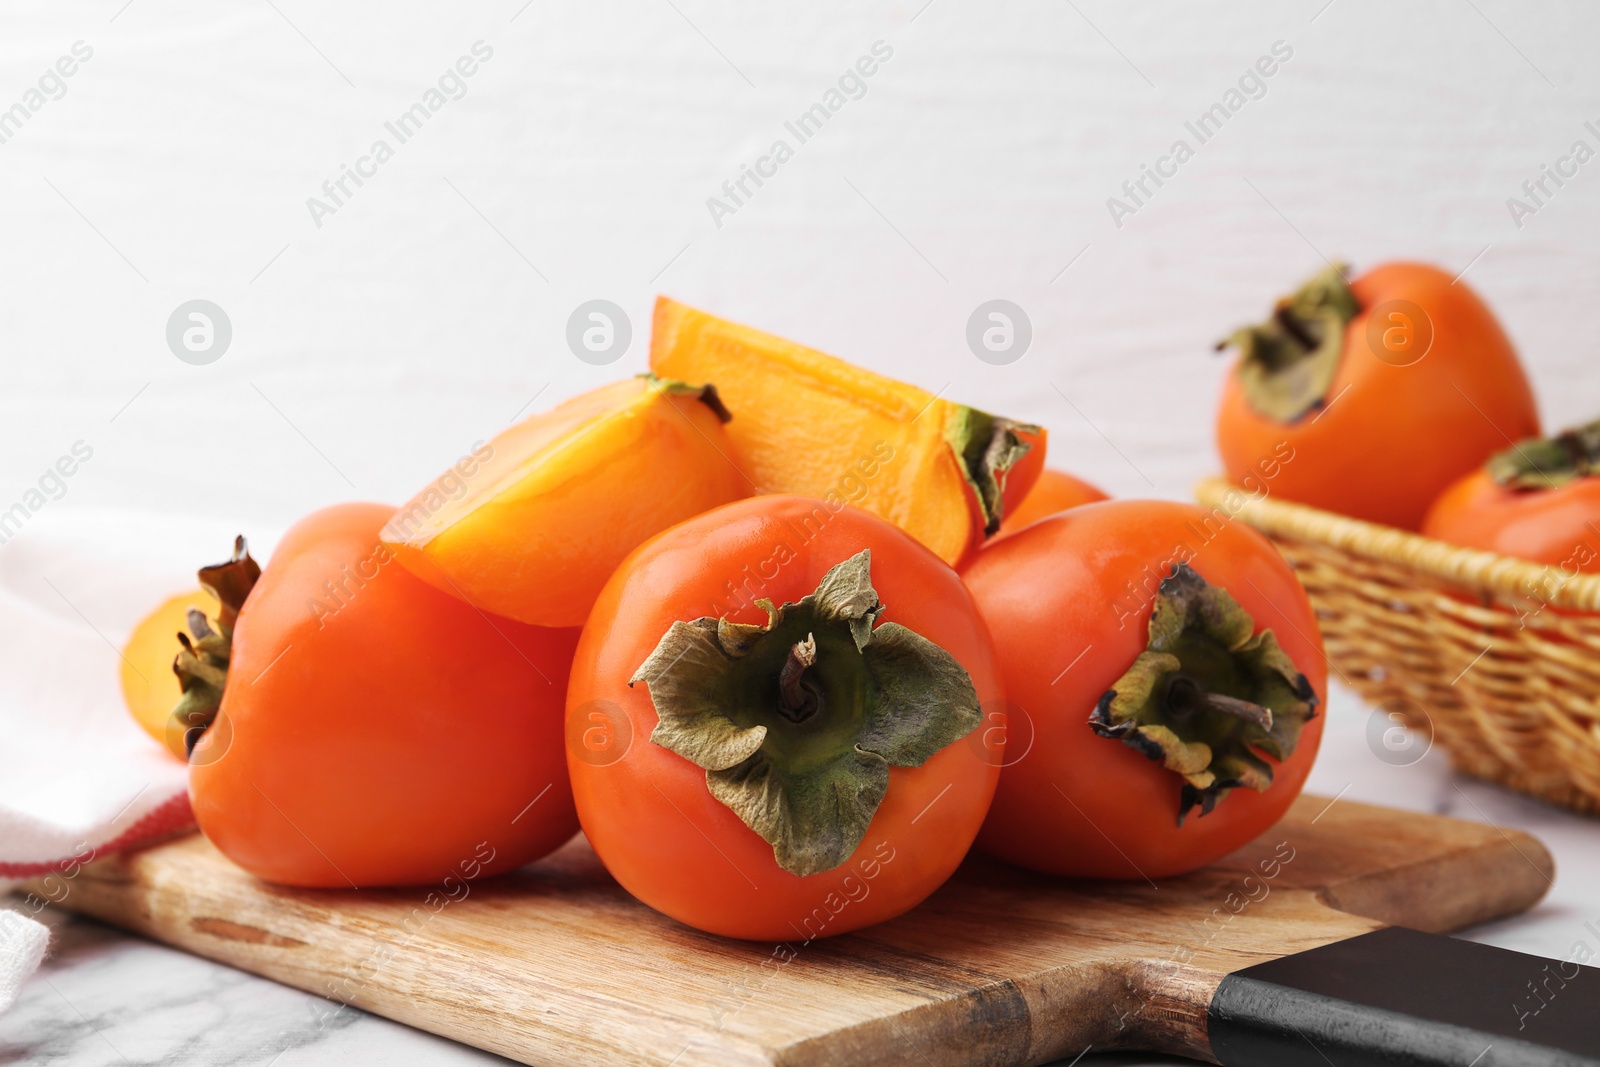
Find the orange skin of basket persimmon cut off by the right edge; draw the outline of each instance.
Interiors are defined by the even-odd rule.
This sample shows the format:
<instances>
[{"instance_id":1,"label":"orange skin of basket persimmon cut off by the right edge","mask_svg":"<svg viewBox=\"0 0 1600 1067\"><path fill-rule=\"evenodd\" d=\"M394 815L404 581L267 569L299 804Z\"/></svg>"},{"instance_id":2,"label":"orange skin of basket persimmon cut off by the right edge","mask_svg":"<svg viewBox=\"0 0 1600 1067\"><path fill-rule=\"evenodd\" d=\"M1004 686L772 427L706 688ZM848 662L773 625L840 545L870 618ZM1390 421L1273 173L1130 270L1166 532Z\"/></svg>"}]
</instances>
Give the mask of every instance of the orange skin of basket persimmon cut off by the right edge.
<instances>
[{"instance_id":1,"label":"orange skin of basket persimmon cut off by the right edge","mask_svg":"<svg viewBox=\"0 0 1600 1067\"><path fill-rule=\"evenodd\" d=\"M1570 573L1600 571L1600 478L1549 490L1509 490L1485 470L1461 478L1434 502L1422 533Z\"/></svg>"}]
</instances>

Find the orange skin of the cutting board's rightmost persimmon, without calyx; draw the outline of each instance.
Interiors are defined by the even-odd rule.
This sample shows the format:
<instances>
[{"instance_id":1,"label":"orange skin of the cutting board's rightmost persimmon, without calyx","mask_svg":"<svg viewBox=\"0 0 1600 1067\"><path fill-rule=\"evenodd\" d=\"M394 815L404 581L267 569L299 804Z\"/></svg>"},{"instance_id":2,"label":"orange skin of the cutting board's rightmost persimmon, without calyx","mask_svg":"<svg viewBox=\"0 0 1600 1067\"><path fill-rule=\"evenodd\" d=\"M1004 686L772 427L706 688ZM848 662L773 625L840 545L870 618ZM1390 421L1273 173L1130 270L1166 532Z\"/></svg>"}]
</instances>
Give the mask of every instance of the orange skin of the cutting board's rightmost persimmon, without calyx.
<instances>
[{"instance_id":1,"label":"orange skin of the cutting board's rightmost persimmon, without calyx","mask_svg":"<svg viewBox=\"0 0 1600 1067\"><path fill-rule=\"evenodd\" d=\"M1318 697L1266 792L1234 789L1178 825L1182 779L1090 729L1090 713L1149 645L1152 581L1187 561L1270 629ZM1162 878L1264 833L1299 795L1322 742L1328 662L1306 590L1240 522L1171 501L1107 501L1050 515L963 574L994 635L1008 701L1005 769L978 846L1066 877Z\"/></svg>"}]
</instances>

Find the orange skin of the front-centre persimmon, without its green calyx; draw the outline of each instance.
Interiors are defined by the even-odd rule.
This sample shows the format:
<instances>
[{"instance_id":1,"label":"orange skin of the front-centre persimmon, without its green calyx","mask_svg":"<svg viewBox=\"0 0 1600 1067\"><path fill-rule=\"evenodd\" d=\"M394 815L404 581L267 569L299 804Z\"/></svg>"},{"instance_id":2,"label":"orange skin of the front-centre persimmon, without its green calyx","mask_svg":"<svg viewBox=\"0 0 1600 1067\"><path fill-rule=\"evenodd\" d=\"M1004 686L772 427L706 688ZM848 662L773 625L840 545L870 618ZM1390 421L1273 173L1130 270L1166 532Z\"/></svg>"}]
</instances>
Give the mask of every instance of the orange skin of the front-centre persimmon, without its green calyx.
<instances>
[{"instance_id":1,"label":"orange skin of the front-centre persimmon, without its green calyx","mask_svg":"<svg viewBox=\"0 0 1600 1067\"><path fill-rule=\"evenodd\" d=\"M966 669L982 709L1000 707L989 633L960 577L877 515L762 496L662 533L618 569L584 627L566 726L584 833L645 904L715 934L798 944L906 912L966 854L1000 774L998 753L982 736L995 728L992 717L922 766L890 768L888 792L854 854L834 870L798 877L712 797L706 771L651 744L656 707L648 686L629 685L674 621L726 613L734 622L765 622L752 598L797 601L862 549L872 552L883 622L944 648ZM741 582L754 582L742 589L746 603L728 609L730 587ZM595 725L618 739L616 758L584 758Z\"/></svg>"}]
</instances>

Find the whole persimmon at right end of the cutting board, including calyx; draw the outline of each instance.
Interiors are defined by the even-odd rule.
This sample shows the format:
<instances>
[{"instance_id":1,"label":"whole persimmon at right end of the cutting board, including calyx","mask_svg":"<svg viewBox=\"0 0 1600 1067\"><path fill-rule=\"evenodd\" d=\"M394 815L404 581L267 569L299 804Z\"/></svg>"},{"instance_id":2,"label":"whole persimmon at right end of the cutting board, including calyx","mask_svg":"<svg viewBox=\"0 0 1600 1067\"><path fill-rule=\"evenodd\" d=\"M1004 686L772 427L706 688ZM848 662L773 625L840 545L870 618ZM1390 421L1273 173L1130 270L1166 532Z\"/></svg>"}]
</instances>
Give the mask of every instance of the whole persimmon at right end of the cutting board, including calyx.
<instances>
[{"instance_id":1,"label":"whole persimmon at right end of the cutting board, including calyx","mask_svg":"<svg viewBox=\"0 0 1600 1067\"><path fill-rule=\"evenodd\" d=\"M1328 667L1306 590L1256 531L1170 501L1085 504L963 577L1011 733L984 851L1160 878L1226 856L1299 795Z\"/></svg>"}]
</instances>

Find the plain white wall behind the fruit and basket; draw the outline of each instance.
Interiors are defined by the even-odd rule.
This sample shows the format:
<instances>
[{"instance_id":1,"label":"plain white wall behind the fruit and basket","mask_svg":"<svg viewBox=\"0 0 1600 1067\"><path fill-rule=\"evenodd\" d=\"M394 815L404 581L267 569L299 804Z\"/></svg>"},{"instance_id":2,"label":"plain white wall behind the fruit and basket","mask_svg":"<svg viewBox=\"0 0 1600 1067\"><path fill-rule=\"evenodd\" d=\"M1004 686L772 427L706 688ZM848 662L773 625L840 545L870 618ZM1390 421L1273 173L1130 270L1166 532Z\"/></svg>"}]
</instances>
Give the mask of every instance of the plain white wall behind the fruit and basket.
<instances>
[{"instance_id":1,"label":"plain white wall behind the fruit and basket","mask_svg":"<svg viewBox=\"0 0 1600 1067\"><path fill-rule=\"evenodd\" d=\"M1506 206L1600 147L1600 8L1323 5L8 3L0 107L94 54L0 146L0 509L78 438L51 509L398 502L534 395L642 370L658 291L1045 422L1122 494L1214 467L1210 342L1322 254L1470 264L1546 416L1600 411L1600 163L1520 229ZM466 98L314 226L480 38ZM706 198L877 40L867 94L715 227ZM1266 96L1115 227L1106 198L1278 40ZM232 318L210 366L165 342L192 298ZM608 368L563 339L592 298L634 322ZM1032 317L1010 366L963 339L990 298Z\"/></svg>"}]
</instances>

